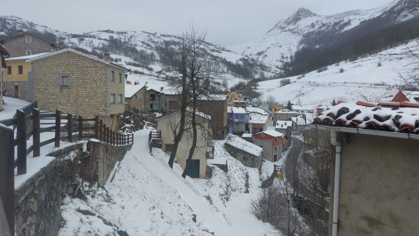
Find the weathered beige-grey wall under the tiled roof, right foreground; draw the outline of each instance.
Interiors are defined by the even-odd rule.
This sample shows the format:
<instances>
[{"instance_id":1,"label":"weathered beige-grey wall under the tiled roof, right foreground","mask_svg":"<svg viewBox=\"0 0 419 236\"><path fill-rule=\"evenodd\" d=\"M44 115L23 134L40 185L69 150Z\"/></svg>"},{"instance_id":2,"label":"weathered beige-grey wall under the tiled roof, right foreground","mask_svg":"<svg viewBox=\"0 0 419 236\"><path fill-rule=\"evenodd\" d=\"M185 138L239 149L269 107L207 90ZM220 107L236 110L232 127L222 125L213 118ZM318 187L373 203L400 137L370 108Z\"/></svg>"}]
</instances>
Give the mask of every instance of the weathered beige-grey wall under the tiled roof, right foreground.
<instances>
[{"instance_id":1,"label":"weathered beige-grey wall under the tiled roof, right foreground","mask_svg":"<svg viewBox=\"0 0 419 236\"><path fill-rule=\"evenodd\" d=\"M338 137L342 143L338 235L416 235L419 141L350 134L347 144L342 133ZM332 165L330 212L334 170Z\"/></svg>"}]
</instances>

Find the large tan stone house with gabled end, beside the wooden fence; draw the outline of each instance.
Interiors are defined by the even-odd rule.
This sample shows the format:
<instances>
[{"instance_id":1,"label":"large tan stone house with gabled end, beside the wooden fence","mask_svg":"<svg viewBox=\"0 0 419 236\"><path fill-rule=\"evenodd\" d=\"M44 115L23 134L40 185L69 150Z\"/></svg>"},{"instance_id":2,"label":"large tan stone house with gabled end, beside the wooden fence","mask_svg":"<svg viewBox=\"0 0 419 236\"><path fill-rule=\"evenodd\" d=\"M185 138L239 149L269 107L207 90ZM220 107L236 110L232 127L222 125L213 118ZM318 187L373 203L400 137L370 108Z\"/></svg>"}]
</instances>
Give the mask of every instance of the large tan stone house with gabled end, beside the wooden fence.
<instances>
[{"instance_id":1,"label":"large tan stone house with gabled end, beside the wooden fence","mask_svg":"<svg viewBox=\"0 0 419 236\"><path fill-rule=\"evenodd\" d=\"M72 113L83 117L99 115L115 129L117 115L124 113L126 68L72 50L63 49L26 60L32 63L32 100L41 110Z\"/></svg>"}]
</instances>

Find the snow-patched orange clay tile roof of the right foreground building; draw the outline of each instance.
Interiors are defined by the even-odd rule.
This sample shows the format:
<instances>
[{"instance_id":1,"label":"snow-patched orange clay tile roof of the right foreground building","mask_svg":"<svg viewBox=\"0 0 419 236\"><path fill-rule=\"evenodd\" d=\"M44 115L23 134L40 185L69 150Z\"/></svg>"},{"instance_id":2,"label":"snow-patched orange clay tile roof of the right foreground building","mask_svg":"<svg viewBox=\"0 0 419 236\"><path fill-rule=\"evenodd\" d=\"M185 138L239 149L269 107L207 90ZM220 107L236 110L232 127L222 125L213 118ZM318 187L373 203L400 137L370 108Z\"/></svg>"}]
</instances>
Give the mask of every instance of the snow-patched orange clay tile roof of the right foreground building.
<instances>
[{"instance_id":1,"label":"snow-patched orange clay tile roof of the right foreground building","mask_svg":"<svg viewBox=\"0 0 419 236\"><path fill-rule=\"evenodd\" d=\"M319 114L314 124L419 134L418 102L342 102Z\"/></svg>"}]
</instances>

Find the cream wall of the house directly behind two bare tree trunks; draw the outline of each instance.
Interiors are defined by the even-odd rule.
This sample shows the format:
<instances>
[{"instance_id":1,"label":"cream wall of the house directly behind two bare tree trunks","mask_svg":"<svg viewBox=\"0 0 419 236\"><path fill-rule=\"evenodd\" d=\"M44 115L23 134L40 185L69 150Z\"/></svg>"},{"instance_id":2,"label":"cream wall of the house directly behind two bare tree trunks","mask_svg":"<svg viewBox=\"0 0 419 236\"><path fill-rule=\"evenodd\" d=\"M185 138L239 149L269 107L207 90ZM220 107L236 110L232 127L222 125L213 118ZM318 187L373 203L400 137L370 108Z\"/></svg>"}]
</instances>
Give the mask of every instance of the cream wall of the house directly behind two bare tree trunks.
<instances>
[{"instance_id":1,"label":"cream wall of the house directly behind two bare tree trunks","mask_svg":"<svg viewBox=\"0 0 419 236\"><path fill-rule=\"evenodd\" d=\"M197 116L197 120L198 122L208 123L207 120L199 116ZM176 125L180 122L180 111L164 115L155 121L157 121L157 130L161 131L162 150L170 155L171 151L166 151L166 144L174 143L171 124ZM191 122L191 113L186 113L186 123L188 122ZM211 132L210 127L208 131ZM206 132L206 130L198 128L197 147L194 151L194 155L192 156L192 159L199 160L199 178L205 178L205 171L207 170L207 159L205 158L205 152L207 151L207 142L212 141L207 140L207 138L211 138L211 134L205 134ZM177 163L181 166L182 169L185 169L186 167L186 159L189 156L189 149L191 148L191 144L192 138L189 134L184 133L176 151Z\"/></svg>"}]
</instances>

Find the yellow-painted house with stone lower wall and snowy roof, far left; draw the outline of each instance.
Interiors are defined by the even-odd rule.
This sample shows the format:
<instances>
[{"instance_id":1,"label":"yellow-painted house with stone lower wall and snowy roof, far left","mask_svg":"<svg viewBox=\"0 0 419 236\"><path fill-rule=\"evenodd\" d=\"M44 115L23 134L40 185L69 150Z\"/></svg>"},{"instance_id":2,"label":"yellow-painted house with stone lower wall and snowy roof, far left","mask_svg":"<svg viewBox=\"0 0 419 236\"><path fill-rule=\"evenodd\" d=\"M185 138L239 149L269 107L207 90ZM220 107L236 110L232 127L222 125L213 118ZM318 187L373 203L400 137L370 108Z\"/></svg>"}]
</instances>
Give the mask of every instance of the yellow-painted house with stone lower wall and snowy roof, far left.
<instances>
[{"instance_id":1,"label":"yellow-painted house with stone lower wall and snowy roof, far left","mask_svg":"<svg viewBox=\"0 0 419 236\"><path fill-rule=\"evenodd\" d=\"M6 59L7 70L3 75L5 96L34 102L34 89L31 81L28 80L32 72L31 63L25 60L45 54L48 54L48 52Z\"/></svg>"}]
</instances>

